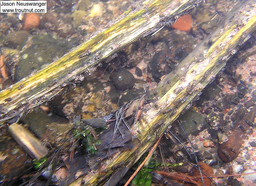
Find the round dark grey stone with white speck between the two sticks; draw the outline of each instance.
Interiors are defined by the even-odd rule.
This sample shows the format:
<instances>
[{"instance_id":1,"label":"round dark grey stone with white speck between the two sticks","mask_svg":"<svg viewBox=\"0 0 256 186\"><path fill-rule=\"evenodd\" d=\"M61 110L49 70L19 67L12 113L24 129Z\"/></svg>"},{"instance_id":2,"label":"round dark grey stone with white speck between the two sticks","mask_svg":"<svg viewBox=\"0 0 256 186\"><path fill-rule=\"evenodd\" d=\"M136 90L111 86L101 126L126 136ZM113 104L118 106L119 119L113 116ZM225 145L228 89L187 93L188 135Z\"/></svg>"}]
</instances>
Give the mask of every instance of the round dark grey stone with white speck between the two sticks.
<instances>
[{"instance_id":1,"label":"round dark grey stone with white speck between the two sticks","mask_svg":"<svg viewBox=\"0 0 256 186\"><path fill-rule=\"evenodd\" d=\"M131 89L135 83L134 76L128 70L121 69L110 76L115 87L119 90Z\"/></svg>"}]
</instances>

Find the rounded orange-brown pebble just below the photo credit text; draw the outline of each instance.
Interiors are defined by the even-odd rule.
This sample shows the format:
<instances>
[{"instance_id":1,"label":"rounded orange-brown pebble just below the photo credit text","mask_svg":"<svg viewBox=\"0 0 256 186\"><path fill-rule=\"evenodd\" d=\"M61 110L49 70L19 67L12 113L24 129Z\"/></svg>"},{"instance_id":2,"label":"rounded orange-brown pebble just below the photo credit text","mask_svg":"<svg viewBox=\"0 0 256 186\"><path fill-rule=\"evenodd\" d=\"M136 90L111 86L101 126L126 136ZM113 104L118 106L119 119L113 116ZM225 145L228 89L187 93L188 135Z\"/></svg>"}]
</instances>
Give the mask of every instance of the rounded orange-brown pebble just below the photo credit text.
<instances>
[{"instance_id":1,"label":"rounded orange-brown pebble just below the photo credit text","mask_svg":"<svg viewBox=\"0 0 256 186\"><path fill-rule=\"evenodd\" d=\"M29 31L32 28L37 28L40 23L40 17L38 13L26 13L24 18L23 30Z\"/></svg>"}]
</instances>

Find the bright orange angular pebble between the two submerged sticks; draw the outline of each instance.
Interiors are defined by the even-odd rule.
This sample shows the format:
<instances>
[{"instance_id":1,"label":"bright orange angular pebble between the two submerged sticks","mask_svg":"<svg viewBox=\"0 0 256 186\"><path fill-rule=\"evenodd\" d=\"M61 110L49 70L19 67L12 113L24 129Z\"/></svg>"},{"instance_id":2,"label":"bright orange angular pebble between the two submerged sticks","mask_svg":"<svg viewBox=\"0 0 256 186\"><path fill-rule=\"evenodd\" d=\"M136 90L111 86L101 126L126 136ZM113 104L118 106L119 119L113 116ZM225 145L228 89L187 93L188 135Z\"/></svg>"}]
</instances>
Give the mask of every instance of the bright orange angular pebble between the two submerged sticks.
<instances>
[{"instance_id":1,"label":"bright orange angular pebble between the two submerged sticks","mask_svg":"<svg viewBox=\"0 0 256 186\"><path fill-rule=\"evenodd\" d=\"M172 25L172 28L189 32L192 27L192 16L190 14L186 14L180 16L177 21Z\"/></svg>"}]
</instances>

